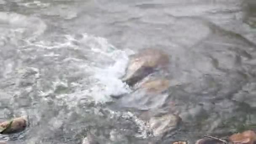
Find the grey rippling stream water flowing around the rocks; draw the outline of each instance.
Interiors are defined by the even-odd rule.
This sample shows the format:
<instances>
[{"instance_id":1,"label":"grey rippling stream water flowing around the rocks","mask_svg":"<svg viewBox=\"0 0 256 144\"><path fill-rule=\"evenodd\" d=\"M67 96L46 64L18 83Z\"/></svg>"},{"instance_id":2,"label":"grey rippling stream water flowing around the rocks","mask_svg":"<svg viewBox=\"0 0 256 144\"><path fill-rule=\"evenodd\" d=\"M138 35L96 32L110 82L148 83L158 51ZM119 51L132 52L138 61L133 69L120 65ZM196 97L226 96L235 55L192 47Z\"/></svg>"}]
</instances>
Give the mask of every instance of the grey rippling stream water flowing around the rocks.
<instances>
[{"instance_id":1,"label":"grey rippling stream water flowing around the rocks","mask_svg":"<svg viewBox=\"0 0 256 144\"><path fill-rule=\"evenodd\" d=\"M255 40L255 0L0 0L0 119L30 123L0 139L82 144L93 133L100 144L170 144L254 129ZM109 106L131 93L120 77L142 48L171 60L173 86L153 103L175 102L182 124L162 139L136 116L144 106Z\"/></svg>"}]
</instances>

